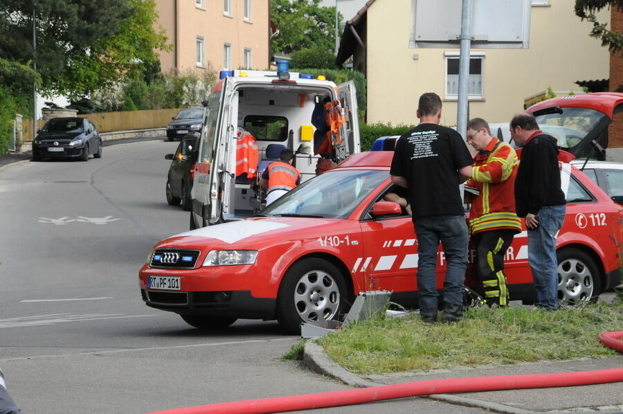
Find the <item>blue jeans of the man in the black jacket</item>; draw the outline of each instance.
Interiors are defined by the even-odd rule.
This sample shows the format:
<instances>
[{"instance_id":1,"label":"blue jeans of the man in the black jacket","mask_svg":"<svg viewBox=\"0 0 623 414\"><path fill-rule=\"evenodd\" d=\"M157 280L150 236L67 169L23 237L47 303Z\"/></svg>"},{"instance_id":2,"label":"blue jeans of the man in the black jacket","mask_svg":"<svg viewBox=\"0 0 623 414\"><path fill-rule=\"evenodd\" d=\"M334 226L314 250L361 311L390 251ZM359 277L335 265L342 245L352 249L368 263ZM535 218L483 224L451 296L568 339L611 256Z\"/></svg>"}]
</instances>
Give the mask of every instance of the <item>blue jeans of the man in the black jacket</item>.
<instances>
[{"instance_id":1,"label":"blue jeans of the man in the black jacket","mask_svg":"<svg viewBox=\"0 0 623 414\"><path fill-rule=\"evenodd\" d=\"M551 310L558 306L556 235L565 221L566 206L543 206L536 215L539 226L528 229L528 261L532 269L536 302Z\"/></svg>"}]
</instances>

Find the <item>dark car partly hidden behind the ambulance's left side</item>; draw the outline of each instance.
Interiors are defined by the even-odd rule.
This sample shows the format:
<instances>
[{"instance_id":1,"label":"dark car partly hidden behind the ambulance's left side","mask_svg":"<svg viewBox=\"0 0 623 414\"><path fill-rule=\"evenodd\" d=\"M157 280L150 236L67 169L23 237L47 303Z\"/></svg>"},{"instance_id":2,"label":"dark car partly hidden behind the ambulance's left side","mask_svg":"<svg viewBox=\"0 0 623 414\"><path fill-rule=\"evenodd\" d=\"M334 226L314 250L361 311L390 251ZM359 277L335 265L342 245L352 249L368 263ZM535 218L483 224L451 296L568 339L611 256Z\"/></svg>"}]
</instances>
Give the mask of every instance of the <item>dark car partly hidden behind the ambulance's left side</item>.
<instances>
[{"instance_id":1,"label":"dark car partly hidden behind the ambulance's left side","mask_svg":"<svg viewBox=\"0 0 623 414\"><path fill-rule=\"evenodd\" d=\"M186 134L177 146L175 154L166 154L165 159L172 160L167 177L167 202L170 206L179 205L190 210L192 201L190 190L195 176L195 163L199 151L199 134Z\"/></svg>"}]
</instances>

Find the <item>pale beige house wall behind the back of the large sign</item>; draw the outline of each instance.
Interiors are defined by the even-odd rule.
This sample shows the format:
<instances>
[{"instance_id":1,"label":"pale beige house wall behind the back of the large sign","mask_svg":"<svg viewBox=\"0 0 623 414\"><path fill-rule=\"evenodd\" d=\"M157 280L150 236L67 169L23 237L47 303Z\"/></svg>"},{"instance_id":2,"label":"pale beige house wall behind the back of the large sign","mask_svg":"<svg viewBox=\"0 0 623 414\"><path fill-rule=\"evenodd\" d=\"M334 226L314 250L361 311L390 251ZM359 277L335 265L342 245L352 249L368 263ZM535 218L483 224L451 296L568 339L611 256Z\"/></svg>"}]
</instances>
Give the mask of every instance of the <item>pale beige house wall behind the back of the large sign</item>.
<instances>
[{"instance_id":1,"label":"pale beige house wall behind the back of the large sign","mask_svg":"<svg viewBox=\"0 0 623 414\"><path fill-rule=\"evenodd\" d=\"M456 125L456 100L445 99L444 52L458 48L409 48L410 3L377 0L368 9L368 123L417 124L417 99L435 92L444 100L442 123ZM608 78L608 50L588 36L592 24L580 21L573 5L550 0L550 6L533 6L528 49L471 50L485 57L483 99L470 101L470 118L508 122L523 111L525 98L548 87L577 93L576 80ZM598 20L609 16L602 11Z\"/></svg>"}]
</instances>

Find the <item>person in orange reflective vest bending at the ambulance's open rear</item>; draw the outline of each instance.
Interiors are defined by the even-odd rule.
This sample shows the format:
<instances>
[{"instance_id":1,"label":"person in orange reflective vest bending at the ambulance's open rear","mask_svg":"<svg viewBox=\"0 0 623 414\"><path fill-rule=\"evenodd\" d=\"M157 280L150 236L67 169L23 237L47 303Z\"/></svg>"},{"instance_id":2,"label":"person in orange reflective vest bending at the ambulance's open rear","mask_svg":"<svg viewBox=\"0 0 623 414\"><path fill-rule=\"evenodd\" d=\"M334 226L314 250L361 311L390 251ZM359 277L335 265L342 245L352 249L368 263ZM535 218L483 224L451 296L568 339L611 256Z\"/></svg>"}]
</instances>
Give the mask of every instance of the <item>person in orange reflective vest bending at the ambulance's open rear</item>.
<instances>
[{"instance_id":1,"label":"person in orange reflective vest bending at the ambulance's open rear","mask_svg":"<svg viewBox=\"0 0 623 414\"><path fill-rule=\"evenodd\" d=\"M300 183L300 172L292 166L293 161L294 152L288 149L282 150L279 154L279 161L271 163L262 172L260 186L268 188L267 206Z\"/></svg>"}]
</instances>

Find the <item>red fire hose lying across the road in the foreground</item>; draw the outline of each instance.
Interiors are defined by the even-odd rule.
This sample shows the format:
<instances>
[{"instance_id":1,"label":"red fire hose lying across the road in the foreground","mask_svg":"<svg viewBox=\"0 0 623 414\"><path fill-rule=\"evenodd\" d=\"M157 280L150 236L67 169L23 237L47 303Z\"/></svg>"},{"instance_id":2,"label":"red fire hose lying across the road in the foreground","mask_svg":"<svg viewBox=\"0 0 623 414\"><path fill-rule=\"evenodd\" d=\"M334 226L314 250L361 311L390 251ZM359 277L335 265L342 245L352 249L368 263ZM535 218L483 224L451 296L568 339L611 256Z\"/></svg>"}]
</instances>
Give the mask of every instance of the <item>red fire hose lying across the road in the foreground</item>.
<instances>
[{"instance_id":1,"label":"red fire hose lying across the road in the foreground","mask_svg":"<svg viewBox=\"0 0 623 414\"><path fill-rule=\"evenodd\" d=\"M604 332L599 341L609 348L623 352L623 331ZM249 399L246 401L224 402L189 408L158 411L150 414L246 414L283 413L313 408L325 408L361 404L443 393L470 393L476 391L515 390L523 388L552 388L606 384L623 381L623 368L583 372L562 372L557 374L505 375L498 377L471 377L415 381L353 390L334 391L290 397Z\"/></svg>"}]
</instances>

